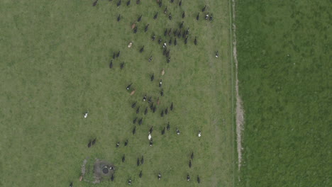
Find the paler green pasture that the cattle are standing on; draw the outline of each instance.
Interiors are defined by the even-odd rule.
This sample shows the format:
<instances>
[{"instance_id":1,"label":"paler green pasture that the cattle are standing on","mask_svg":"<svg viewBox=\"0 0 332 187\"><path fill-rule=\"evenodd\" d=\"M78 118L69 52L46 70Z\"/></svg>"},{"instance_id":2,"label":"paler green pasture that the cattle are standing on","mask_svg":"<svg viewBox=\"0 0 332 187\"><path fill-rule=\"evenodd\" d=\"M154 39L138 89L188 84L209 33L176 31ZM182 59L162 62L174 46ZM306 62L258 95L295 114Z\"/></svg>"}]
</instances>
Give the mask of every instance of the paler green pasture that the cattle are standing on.
<instances>
[{"instance_id":1,"label":"paler green pasture that the cattle are standing on","mask_svg":"<svg viewBox=\"0 0 332 187\"><path fill-rule=\"evenodd\" d=\"M162 8L155 1L142 1L140 5L132 1L128 7L123 1L119 8L116 1L100 0L94 7L92 2L0 1L0 186L69 186L70 181L74 186L92 186L79 182L87 157L118 167L114 182L97 186L126 186L129 178L133 186L199 186L197 175L201 176L200 186L232 186L228 1L183 1L181 7L175 5L178 0L174 4L163 1ZM204 4L214 13L211 23L203 19L203 13L196 21ZM163 14L165 6L172 13L172 21ZM159 16L154 20L157 11ZM167 64L161 45L150 37L155 33L164 40L164 30L181 23L182 11L186 12L184 28L190 28L189 41L184 45L181 39L177 46L170 46L171 62ZM121 21L117 22L119 13ZM141 14L138 33L133 34L131 23ZM150 27L144 33L146 24ZM133 46L128 48L131 41ZM109 69L113 53L119 50L121 56ZM216 50L218 59L214 57ZM150 55L152 62L148 62ZM126 63L122 71L121 62ZM163 68L165 96L159 96L157 112L149 111L145 116L143 109L148 105L141 99L144 94L157 98ZM155 81L151 82L153 73ZM133 96L126 91L130 83L136 89ZM138 101L138 117L143 117L135 135L131 133L137 116L131 108L133 101ZM171 102L175 110L160 117L161 109ZM84 119L86 110L89 116ZM160 130L167 122L171 130L162 136ZM149 147L152 125L154 145ZM176 135L176 128L181 135ZM96 145L88 149L87 143L94 137ZM129 144L123 147L127 138ZM116 149L117 141L121 146ZM194 160L189 169L192 151ZM125 163L121 162L123 154ZM141 155L145 164L136 166ZM141 169L143 178L139 179ZM157 180L159 171L161 181ZM192 181L187 182L187 174Z\"/></svg>"}]
</instances>

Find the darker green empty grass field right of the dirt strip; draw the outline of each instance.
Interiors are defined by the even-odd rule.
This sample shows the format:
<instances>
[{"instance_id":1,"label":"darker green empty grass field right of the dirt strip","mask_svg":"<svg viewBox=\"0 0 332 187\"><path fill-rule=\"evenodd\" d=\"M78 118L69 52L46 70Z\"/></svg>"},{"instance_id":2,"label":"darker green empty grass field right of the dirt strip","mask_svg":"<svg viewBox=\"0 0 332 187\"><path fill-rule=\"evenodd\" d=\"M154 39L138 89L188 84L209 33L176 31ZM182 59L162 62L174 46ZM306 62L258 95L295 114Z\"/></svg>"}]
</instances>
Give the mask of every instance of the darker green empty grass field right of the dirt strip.
<instances>
[{"instance_id":1,"label":"darker green empty grass field right of the dirt strip","mask_svg":"<svg viewBox=\"0 0 332 187\"><path fill-rule=\"evenodd\" d=\"M239 186L331 186L331 1L238 1Z\"/></svg>"}]
</instances>

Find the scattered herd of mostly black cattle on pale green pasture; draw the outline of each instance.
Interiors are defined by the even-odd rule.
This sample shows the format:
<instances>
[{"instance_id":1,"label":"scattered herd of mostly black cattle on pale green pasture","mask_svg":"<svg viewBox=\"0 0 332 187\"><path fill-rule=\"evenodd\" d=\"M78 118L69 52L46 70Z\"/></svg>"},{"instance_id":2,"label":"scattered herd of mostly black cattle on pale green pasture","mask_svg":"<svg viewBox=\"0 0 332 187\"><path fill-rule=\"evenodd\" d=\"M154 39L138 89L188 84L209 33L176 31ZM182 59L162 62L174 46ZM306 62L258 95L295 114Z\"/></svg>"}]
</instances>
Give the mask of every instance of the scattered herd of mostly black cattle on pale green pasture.
<instances>
[{"instance_id":1,"label":"scattered herd of mostly black cattle on pale green pasture","mask_svg":"<svg viewBox=\"0 0 332 187\"><path fill-rule=\"evenodd\" d=\"M98 1L99 0L96 0L94 1L94 3L92 4L93 6L96 6L98 4ZM109 1L113 1L113 0L109 0ZM156 0L157 1L157 6L159 6L160 8L162 8L162 0ZM164 0L165 1L165 0ZM174 0L170 0L170 3L174 3ZM116 3L116 6L121 6L122 4L122 0L118 0L117 3ZM140 4L140 0L136 0L136 4ZM131 0L128 0L126 1L126 6L130 6L131 5ZM179 0L178 3L177 3L178 6L182 6L182 0ZM211 13L206 13L206 8L207 6L204 6L202 9L201 9L201 12L205 14L204 18L206 21L213 21L213 14ZM165 15L172 21L172 13L170 13L168 10L167 10L167 6L165 6L164 8L164 11L163 13L165 13ZM155 15L153 16L153 19L157 19L158 18L158 14L159 13L155 13ZM197 16L196 16L196 19L197 21L199 21L199 14L200 13L197 13ZM183 12L182 13L182 18L184 18L186 16L186 14ZM143 15L140 15L137 19L137 22L140 22L143 18ZM117 21L121 21L121 15L119 14L116 18ZM138 32L138 26L136 25L137 23L133 23L132 26L131 26L131 29L133 30L133 33L137 33ZM145 27L144 27L144 32L147 32L148 29L149 29L149 26L150 24L147 24ZM172 38L172 35L174 37L174 39ZM162 55L165 55L166 57L166 62L167 63L170 63L170 50L168 50L168 46L170 45L177 45L178 44L178 40L183 40L184 42L184 45L187 45L187 42L188 42L188 38L189 38L189 28L184 28L184 21L182 21L180 24L179 24L179 28L170 28L170 29L165 29L165 32L164 32L164 36L165 37L170 37L170 39L168 40L168 42L165 40L165 42L162 42L162 38L159 36L158 39L157 39L157 42L158 44L160 44L160 48L162 49ZM156 40L156 35L153 34L151 36L151 40L152 41L155 41ZM133 42L130 42L128 44L128 47L131 47L133 45ZM198 45L198 40L197 40L197 37L195 36L194 37L194 45ZM140 47L140 50L139 50L140 53L144 52L144 45L142 47ZM120 54L121 54L121 51L118 51L118 52L114 52L113 54L113 57L111 59L111 62L109 63L109 68L113 68L113 60L115 60L117 57L120 57ZM215 57L218 57L218 51L216 51L215 53ZM148 59L148 62L151 62L153 60L153 56L150 56L150 58ZM120 68L123 69L124 68L124 62L122 62L120 64ZM161 72L161 75L164 75L165 74L165 69L162 69L162 72ZM150 81L154 81L155 79L155 74L152 74L150 76ZM160 90L160 96L164 96L164 91L162 89L162 79L159 80L159 84L158 84L158 87L159 87L159 90ZM126 90L127 91L130 91L131 95L135 94L135 89L133 89L133 83L131 84L128 84L128 86L126 86ZM156 109L157 109L157 106L159 106L160 104L160 98L157 97L155 99L155 101L153 101L153 96L147 96L146 94L143 96L142 98L142 101L145 102L147 101L148 103L148 106L146 106L145 104L145 108L140 108L140 106L138 106L138 101L135 101L131 104L131 108L134 108L135 110L135 113L138 114L140 113L140 111L143 111L144 115L147 115L148 114L148 111L150 109L150 111L152 113L155 113L156 112ZM171 102L170 103L170 110L169 108L164 108L161 110L161 113L160 113L160 116L161 117L164 117L164 115L168 115L171 111L174 110L174 104ZM89 114L89 111L86 111L84 113L84 118L87 118L88 117L88 114ZM133 124L136 124L138 123L138 125L142 125L143 124L143 118L138 118L138 117L135 117L133 119ZM167 123L167 126L162 128L161 130L161 135L164 135L165 134L165 130L170 130L170 123ZM133 135L135 135L135 132L136 132L136 126L133 128ZM176 128L176 131L177 135L180 135L180 131L178 128ZM153 137L152 137L152 133L153 133L153 126L150 128L149 132L148 132L148 140L149 140L149 145L150 147L153 147ZM201 131L198 130L198 137L201 137ZM88 145L87 147L92 147L93 145L95 145L96 143L96 138L94 138L93 140L90 140L88 142ZM128 139L126 140L126 142L124 142L123 144L124 146L127 146L128 145ZM116 142L116 145L115 147L118 148L120 146L120 142ZM194 159L194 152L192 152L190 158L189 158L189 168L192 167L192 160ZM125 162L126 161L126 157L125 155L123 154L123 157L122 157L122 162ZM137 159L137 165L139 166L140 164L143 164L144 163L144 157L142 156L141 158L138 158ZM111 168L109 168L111 170L114 170L115 171L115 168L114 166L112 166ZM138 174L138 176L140 178L142 178L143 176L143 171L140 170L140 173ZM159 172L157 174L157 179L158 180L161 180L162 179L162 173ZM189 176L189 174L187 174L187 181L190 181L191 180L191 177ZM111 181L114 181L114 174L111 175ZM199 176L197 176L197 183L200 183L201 182L201 179ZM128 179L128 184L131 185L132 183L132 180L131 178ZM70 183L70 187L73 186L73 183Z\"/></svg>"}]
</instances>

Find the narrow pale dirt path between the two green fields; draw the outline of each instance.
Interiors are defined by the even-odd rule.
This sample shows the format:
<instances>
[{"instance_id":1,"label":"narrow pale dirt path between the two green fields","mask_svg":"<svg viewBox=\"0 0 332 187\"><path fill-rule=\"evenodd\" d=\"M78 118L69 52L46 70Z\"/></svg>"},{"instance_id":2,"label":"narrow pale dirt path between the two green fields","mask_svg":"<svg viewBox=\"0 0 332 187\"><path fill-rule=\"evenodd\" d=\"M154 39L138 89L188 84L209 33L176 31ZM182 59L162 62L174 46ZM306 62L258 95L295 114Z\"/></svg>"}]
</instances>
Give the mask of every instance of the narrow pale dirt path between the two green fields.
<instances>
[{"instance_id":1,"label":"narrow pale dirt path between the two green fields","mask_svg":"<svg viewBox=\"0 0 332 187\"><path fill-rule=\"evenodd\" d=\"M233 31L233 59L236 65L236 142L238 147L238 170L241 167L241 160L242 160L242 130L244 125L244 111L242 107L242 100L240 95L238 94L238 59L236 55L236 25L234 23L236 18L235 13L235 0L232 0L232 7L233 7L233 23L232 23L232 31Z\"/></svg>"}]
</instances>

